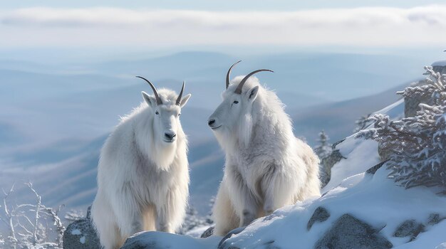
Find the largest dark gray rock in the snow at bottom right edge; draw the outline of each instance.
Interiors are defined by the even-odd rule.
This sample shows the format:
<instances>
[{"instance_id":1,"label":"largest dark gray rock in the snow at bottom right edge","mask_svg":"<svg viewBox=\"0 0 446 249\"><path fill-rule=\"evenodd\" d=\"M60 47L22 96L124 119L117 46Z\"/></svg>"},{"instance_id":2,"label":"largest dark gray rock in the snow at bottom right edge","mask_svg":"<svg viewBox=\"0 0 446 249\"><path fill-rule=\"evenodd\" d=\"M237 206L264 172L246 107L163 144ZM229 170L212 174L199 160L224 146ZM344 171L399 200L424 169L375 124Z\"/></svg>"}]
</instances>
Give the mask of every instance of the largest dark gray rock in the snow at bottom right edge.
<instances>
[{"instance_id":1,"label":"largest dark gray rock in the snow at bottom right edge","mask_svg":"<svg viewBox=\"0 0 446 249\"><path fill-rule=\"evenodd\" d=\"M344 214L316 242L316 249L381 249L392 248L387 238L368 223Z\"/></svg>"}]
</instances>

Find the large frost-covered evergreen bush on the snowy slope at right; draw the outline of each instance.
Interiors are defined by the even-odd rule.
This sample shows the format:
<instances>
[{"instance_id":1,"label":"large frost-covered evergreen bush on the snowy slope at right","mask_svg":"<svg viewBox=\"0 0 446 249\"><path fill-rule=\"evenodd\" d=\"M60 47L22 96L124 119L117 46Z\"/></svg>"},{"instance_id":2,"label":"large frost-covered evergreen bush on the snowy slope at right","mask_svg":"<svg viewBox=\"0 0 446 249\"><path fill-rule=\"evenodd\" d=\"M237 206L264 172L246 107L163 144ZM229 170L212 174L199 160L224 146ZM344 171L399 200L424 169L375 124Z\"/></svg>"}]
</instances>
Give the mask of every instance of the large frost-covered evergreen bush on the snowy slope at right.
<instances>
[{"instance_id":1,"label":"large frost-covered evergreen bush on the snowy slope at right","mask_svg":"<svg viewBox=\"0 0 446 249\"><path fill-rule=\"evenodd\" d=\"M389 177L406 188L440 186L446 189L446 85L440 73L425 67L428 85L405 88L404 97L430 95L432 105L420 104L415 117L390 120L375 114L374 127L356 137L374 139L390 152Z\"/></svg>"}]
</instances>

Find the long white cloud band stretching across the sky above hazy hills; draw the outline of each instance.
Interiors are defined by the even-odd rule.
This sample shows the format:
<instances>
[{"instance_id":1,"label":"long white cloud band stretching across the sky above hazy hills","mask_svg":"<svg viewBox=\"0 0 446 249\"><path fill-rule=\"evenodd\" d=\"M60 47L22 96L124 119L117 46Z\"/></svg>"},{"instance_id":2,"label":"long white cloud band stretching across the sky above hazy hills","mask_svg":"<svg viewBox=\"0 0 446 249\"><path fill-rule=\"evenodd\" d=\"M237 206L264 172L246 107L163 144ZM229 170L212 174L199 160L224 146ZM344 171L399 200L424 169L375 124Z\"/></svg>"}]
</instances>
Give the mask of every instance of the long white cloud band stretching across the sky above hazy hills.
<instances>
[{"instance_id":1,"label":"long white cloud band stretching across the sky above hazy hills","mask_svg":"<svg viewBox=\"0 0 446 249\"><path fill-rule=\"evenodd\" d=\"M446 5L184 11L31 8L0 13L0 46L446 46Z\"/></svg>"}]
</instances>

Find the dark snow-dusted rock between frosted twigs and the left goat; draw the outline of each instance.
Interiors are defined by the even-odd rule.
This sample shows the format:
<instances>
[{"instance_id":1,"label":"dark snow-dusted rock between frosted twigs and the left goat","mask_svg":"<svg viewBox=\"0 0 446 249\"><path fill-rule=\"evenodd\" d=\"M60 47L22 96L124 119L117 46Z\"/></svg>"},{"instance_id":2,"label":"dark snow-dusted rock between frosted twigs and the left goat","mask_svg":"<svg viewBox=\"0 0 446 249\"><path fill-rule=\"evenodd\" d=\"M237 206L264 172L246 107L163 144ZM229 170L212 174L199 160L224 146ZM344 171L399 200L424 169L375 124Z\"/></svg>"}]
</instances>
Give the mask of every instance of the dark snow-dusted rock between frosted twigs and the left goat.
<instances>
[{"instance_id":1,"label":"dark snow-dusted rock between frosted twigs and the left goat","mask_svg":"<svg viewBox=\"0 0 446 249\"><path fill-rule=\"evenodd\" d=\"M63 233L63 249L100 249L100 242L90 219L90 207L87 217L74 221Z\"/></svg>"}]
</instances>

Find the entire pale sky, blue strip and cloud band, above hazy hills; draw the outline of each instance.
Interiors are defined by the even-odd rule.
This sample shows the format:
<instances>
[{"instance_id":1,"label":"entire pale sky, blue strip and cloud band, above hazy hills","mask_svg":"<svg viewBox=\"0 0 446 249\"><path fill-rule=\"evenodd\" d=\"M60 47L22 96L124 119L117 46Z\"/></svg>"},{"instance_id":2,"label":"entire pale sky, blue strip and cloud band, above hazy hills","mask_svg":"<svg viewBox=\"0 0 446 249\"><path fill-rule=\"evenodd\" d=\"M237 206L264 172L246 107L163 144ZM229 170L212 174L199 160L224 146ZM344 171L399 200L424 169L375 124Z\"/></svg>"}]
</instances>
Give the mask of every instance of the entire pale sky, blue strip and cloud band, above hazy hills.
<instances>
[{"instance_id":1,"label":"entire pale sky, blue strip and cloud band, above hazy hills","mask_svg":"<svg viewBox=\"0 0 446 249\"><path fill-rule=\"evenodd\" d=\"M446 46L442 1L145 2L3 2L0 46Z\"/></svg>"}]
</instances>

